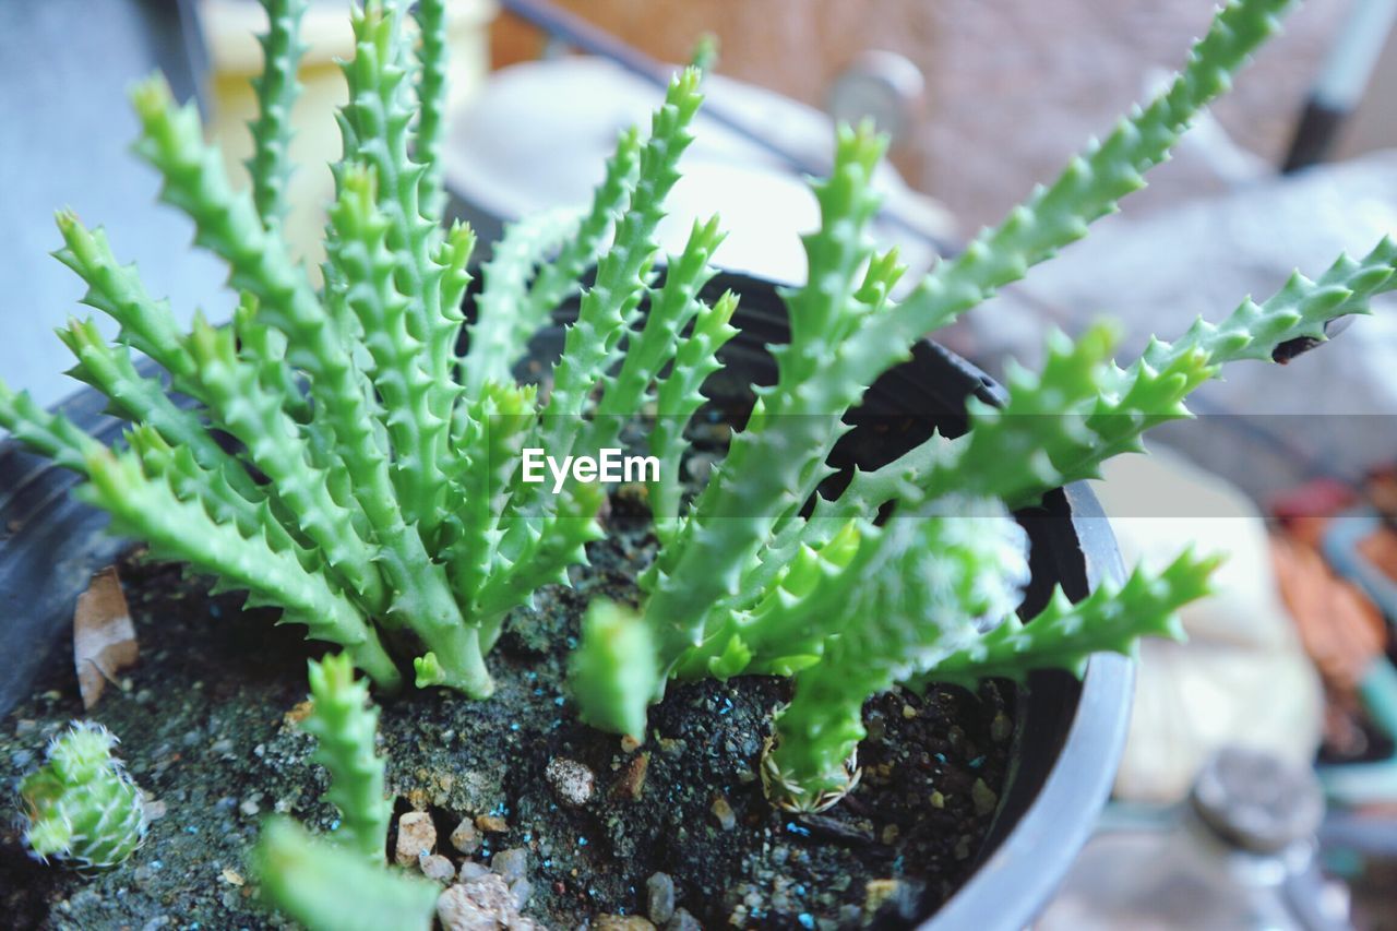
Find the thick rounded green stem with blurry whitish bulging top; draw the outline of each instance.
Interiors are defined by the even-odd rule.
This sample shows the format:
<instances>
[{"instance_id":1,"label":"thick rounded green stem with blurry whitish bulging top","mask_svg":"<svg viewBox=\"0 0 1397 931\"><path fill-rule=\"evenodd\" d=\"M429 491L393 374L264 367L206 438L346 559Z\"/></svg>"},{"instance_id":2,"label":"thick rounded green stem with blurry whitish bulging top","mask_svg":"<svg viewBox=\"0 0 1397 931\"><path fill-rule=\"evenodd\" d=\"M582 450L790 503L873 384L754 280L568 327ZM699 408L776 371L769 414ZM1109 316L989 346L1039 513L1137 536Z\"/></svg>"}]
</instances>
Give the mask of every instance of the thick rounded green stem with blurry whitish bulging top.
<instances>
[{"instance_id":1,"label":"thick rounded green stem with blurry whitish bulging top","mask_svg":"<svg viewBox=\"0 0 1397 931\"><path fill-rule=\"evenodd\" d=\"M795 674L766 762L773 790L796 808L847 787L868 696L974 643L1018 605L1030 577L1027 534L988 499L946 499L859 537L844 572L770 605L774 622L820 650Z\"/></svg>"}]
</instances>

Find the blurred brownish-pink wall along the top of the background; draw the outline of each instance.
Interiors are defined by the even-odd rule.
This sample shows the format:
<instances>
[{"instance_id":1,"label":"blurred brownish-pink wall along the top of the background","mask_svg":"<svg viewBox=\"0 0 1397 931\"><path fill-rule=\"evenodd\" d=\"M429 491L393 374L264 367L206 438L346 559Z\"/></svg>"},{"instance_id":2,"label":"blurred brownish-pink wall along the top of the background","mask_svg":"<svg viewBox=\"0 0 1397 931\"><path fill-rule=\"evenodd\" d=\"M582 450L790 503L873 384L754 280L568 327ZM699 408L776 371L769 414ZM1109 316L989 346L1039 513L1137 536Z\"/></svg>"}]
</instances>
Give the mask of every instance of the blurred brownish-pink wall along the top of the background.
<instances>
[{"instance_id":1,"label":"blurred brownish-pink wall along the top of the background","mask_svg":"<svg viewBox=\"0 0 1397 931\"><path fill-rule=\"evenodd\" d=\"M894 161L967 225L997 218L1141 94L1179 67L1214 0L560 0L650 55L682 62L696 36L721 43L719 71L820 106L862 50L900 52L928 80ZM1243 74L1218 116L1277 161L1345 0L1309 0ZM495 64L536 57L532 28L502 15ZM1186 178L1169 178L1180 194ZM1168 199L1168 186L1164 199ZM1160 194L1157 192L1155 203Z\"/></svg>"}]
</instances>

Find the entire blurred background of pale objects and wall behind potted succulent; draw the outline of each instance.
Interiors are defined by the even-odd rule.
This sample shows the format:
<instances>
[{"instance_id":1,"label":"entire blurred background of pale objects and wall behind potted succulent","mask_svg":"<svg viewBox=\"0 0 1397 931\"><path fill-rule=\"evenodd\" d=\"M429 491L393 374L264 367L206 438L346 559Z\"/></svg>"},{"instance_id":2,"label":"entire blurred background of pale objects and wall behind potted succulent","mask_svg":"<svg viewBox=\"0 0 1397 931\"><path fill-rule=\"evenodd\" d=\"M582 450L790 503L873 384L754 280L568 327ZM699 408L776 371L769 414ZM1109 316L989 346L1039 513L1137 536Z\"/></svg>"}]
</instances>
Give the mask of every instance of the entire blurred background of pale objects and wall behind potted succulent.
<instances>
[{"instance_id":1,"label":"entire blurred background of pale objects and wall behind potted succulent","mask_svg":"<svg viewBox=\"0 0 1397 931\"><path fill-rule=\"evenodd\" d=\"M305 27L288 235L312 266L339 148L334 59L352 52L344 8L316 1ZM877 231L912 281L1168 80L1211 13L1211 0L455 0L453 211L488 242L525 212L584 201L616 133L712 35L721 57L671 247L718 211L733 231L721 264L800 278L796 235L816 215L802 175L827 165L833 119L868 116L893 137ZM1120 215L942 338L995 373L1034 362L1051 327L1111 315L1129 354L1397 232L1394 13L1306 3ZM251 0L0 0L11 384L43 403L73 390L52 329L82 289L45 254L60 205L108 226L186 319L228 315L217 263L187 249L191 229L126 151L124 92L163 68L240 172L261 28ZM1375 310L1285 369L1229 372L1201 393L1200 422L1101 484L1127 562L1189 542L1232 558L1186 619L1190 643L1146 649L1116 802L1044 927L1397 927L1397 308ZM1323 818L1308 801L1320 794ZM1218 828L1259 807L1267 830Z\"/></svg>"}]
</instances>

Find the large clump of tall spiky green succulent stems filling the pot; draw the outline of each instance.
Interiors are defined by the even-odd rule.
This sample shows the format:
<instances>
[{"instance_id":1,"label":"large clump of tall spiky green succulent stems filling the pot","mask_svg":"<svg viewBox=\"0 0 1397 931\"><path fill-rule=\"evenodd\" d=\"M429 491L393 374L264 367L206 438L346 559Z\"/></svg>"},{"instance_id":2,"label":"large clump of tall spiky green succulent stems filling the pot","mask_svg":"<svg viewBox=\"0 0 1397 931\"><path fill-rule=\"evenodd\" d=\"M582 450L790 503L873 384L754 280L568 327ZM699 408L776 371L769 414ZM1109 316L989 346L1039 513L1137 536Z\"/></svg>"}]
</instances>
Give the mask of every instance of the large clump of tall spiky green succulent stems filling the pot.
<instances>
[{"instance_id":1,"label":"large clump of tall spiky green succulent stems filling the pot","mask_svg":"<svg viewBox=\"0 0 1397 931\"><path fill-rule=\"evenodd\" d=\"M798 808L827 804L849 783L859 709L872 693L1038 665L1080 671L1094 650L1175 633L1173 611L1206 590L1211 561L1137 572L1076 607L1059 597L1020 623L1025 555L1011 512L1187 417L1189 393L1224 363L1323 340L1329 320L1366 312L1397 285L1397 247L1384 239L1319 278L1296 273L1218 324L1200 320L1172 342L1155 340L1125 365L1113 361L1109 327L1053 335L1041 372L1010 369L1002 407L970 403L963 436L935 435L827 491L830 453L849 429L844 415L868 386L909 358L916 340L1144 186L1144 172L1289 6L1232 0L1164 92L902 299L891 292L905 270L869 233L883 141L841 127L830 175L813 185L820 225L803 238L807 281L782 292L789 341L773 349L777 380L757 390L725 459L686 503L685 428L722 365L738 306L736 295L701 296L722 238L717 219L696 224L679 254L662 256L657 243L701 73L686 68L669 82L647 136L622 133L585 210L506 229L467 327L474 236L440 222L443 4L419 3L411 14L416 50L405 4L366 0L353 13L344 158L319 288L279 231L305 4L264 6L271 29L250 193L233 190L196 112L176 106L161 80L133 95L137 148L161 173L163 199L228 264L242 298L232 323L196 320L183 331L102 231L63 212L59 259L88 284L87 303L120 324L115 345L85 322L64 330L74 375L131 429L124 449L106 449L3 386L0 425L85 474L78 493L109 510L117 530L246 589L254 604L281 607L379 686L395 688L398 663L411 657L419 686L486 698L485 657L506 618L539 587L566 583L602 535L605 489L573 478L552 493L524 481L522 450L557 460L594 453L654 411L658 554L641 575L638 605L588 611L574 698L587 721L641 738L647 707L673 678L793 677L764 773L774 795ZM517 384L511 372L528 338L574 296L577 316L546 390ZM462 330L469 348L458 355ZM133 349L196 407L141 376ZM219 445L215 432L236 443Z\"/></svg>"}]
</instances>

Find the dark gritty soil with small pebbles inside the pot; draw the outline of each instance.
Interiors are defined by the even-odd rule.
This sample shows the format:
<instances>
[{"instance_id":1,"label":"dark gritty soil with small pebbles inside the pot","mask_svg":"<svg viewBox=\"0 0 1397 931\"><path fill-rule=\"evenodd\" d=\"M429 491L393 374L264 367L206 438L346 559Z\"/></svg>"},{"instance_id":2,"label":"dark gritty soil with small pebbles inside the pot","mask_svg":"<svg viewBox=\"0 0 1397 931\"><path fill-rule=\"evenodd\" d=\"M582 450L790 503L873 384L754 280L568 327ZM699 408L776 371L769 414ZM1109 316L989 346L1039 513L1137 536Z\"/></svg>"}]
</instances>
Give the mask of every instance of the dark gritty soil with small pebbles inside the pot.
<instances>
[{"instance_id":1,"label":"dark gritty soil with small pebbles inside the pot","mask_svg":"<svg viewBox=\"0 0 1397 931\"><path fill-rule=\"evenodd\" d=\"M869 702L858 790L820 816L774 811L756 777L785 684L743 678L679 684L650 717L640 748L576 721L563 692L567 649L587 601L634 598L654 545L644 506L613 499L609 540L574 569L576 589L539 593L492 654L499 691L476 703L409 691L384 703L383 752L398 809L427 809L439 853L450 832L497 818L472 854L527 851L524 914L570 928L598 914L645 914L647 879L668 874L704 927L834 928L898 923L898 909L939 903L967 876L993 815L1011 709L993 685ZM88 717L122 738L120 755L163 805L145 846L85 876L41 865L18 818L0 828L0 923L15 928L253 928L282 924L258 902L246 863L258 822L288 812L317 830L324 772L307 762L305 664L317 650L275 612L243 615L207 580L129 559L120 566L142 656ZM11 787L46 739L82 717L70 653L47 661L36 693L0 727L0 777ZM563 756L595 774L566 807L545 779ZM499 822L493 826L500 826ZM390 844L391 844L390 837ZM390 846L391 850L391 846ZM882 911L879 906L882 904ZM690 925L692 927L692 925Z\"/></svg>"}]
</instances>

